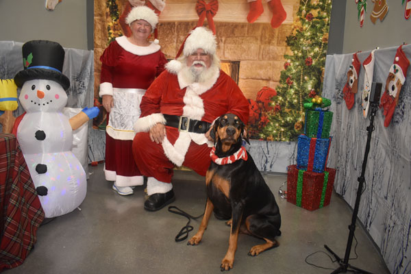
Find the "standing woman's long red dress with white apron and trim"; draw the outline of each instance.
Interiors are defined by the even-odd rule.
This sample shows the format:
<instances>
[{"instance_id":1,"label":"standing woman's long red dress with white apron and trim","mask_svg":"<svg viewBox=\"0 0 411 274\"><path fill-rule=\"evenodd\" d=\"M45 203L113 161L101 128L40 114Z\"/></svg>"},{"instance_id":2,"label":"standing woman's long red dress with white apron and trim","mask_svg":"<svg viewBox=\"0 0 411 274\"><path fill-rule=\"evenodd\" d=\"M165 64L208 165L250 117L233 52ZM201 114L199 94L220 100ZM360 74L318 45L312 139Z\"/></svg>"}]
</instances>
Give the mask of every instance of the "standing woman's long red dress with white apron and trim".
<instances>
[{"instance_id":1,"label":"standing woman's long red dress with white apron and trim","mask_svg":"<svg viewBox=\"0 0 411 274\"><path fill-rule=\"evenodd\" d=\"M105 179L117 186L143 183L132 155L133 125L140 116L140 101L167 60L160 45L139 47L125 36L116 38L101 55L99 95L112 95L105 144Z\"/></svg>"}]
</instances>

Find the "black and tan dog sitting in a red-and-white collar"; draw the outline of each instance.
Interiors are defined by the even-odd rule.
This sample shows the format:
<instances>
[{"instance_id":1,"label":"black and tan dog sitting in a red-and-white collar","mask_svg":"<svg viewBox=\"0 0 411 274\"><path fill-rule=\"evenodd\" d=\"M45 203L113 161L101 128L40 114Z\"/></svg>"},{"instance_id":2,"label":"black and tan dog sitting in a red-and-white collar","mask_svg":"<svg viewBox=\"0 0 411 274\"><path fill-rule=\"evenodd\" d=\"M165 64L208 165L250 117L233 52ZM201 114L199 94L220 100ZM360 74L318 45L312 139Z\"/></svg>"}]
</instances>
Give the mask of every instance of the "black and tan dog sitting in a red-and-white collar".
<instances>
[{"instance_id":1,"label":"black and tan dog sitting in a red-and-white collar","mask_svg":"<svg viewBox=\"0 0 411 274\"><path fill-rule=\"evenodd\" d=\"M242 147L242 121L234 114L224 114L215 121L213 130L214 153L206 174L206 210L199 231L188 245L199 244L213 210L219 219L231 218L227 222L231 225L229 247L221 262L221 271L225 271L233 267L240 232L266 241L251 247L250 256L277 247L275 237L281 235L281 216L273 193Z\"/></svg>"}]
</instances>

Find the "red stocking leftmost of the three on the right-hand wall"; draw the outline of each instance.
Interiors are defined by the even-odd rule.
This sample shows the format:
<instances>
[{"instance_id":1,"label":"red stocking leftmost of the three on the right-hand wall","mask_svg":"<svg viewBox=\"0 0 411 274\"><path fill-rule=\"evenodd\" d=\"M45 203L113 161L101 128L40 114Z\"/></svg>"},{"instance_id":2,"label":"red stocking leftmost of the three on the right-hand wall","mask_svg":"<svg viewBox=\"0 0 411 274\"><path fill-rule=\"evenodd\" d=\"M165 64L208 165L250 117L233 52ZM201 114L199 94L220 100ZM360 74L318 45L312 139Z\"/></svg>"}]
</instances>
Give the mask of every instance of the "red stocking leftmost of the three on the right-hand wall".
<instances>
[{"instance_id":1,"label":"red stocking leftmost of the three on the right-hand wall","mask_svg":"<svg viewBox=\"0 0 411 274\"><path fill-rule=\"evenodd\" d=\"M354 105L355 96L358 91L358 73L360 73L360 60L357 53L353 54L353 60L347 71L347 82L343 88L343 97L347 108L351 110Z\"/></svg>"}]
</instances>

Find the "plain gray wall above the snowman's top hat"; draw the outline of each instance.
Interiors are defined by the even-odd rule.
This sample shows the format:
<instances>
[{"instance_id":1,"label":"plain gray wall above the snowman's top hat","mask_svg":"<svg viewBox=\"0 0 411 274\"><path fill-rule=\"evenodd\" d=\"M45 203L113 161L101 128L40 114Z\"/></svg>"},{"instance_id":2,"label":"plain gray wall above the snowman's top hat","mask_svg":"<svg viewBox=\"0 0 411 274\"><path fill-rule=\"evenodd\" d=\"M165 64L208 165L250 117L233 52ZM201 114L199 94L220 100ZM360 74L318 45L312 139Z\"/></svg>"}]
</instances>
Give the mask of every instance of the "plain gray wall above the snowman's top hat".
<instances>
[{"instance_id":1,"label":"plain gray wall above the snowman's top hat","mask_svg":"<svg viewBox=\"0 0 411 274\"><path fill-rule=\"evenodd\" d=\"M92 49L92 3L63 0L48 11L45 0L0 0L0 40L44 39L67 48Z\"/></svg>"}]
</instances>

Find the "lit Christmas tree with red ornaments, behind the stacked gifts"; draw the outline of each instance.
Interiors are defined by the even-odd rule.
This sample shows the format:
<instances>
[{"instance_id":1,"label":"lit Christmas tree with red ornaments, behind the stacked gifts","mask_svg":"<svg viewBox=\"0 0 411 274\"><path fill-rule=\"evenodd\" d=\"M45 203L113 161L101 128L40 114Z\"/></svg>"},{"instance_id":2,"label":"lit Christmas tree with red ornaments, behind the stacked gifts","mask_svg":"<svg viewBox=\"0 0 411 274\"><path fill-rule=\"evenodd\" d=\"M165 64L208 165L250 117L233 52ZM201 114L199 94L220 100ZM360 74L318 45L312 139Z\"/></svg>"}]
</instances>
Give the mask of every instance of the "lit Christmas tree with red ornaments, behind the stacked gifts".
<instances>
[{"instance_id":1,"label":"lit Christmas tree with red ornaments, behind the stacked gifts","mask_svg":"<svg viewBox=\"0 0 411 274\"><path fill-rule=\"evenodd\" d=\"M301 0L292 34L286 42L292 55L284 55L273 110L268 123L259 132L259 139L290 141L303 133L304 99L321 95L327 55L331 0Z\"/></svg>"}]
</instances>

